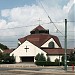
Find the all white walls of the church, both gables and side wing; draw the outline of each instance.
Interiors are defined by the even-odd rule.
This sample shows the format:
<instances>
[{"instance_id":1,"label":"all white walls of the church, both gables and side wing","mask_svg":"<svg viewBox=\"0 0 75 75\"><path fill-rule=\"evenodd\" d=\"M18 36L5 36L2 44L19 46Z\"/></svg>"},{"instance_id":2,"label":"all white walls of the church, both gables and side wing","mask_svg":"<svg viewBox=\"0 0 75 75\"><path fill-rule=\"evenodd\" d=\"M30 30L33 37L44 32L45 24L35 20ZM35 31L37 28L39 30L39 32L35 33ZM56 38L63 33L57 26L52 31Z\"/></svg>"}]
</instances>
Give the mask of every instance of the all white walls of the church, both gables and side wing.
<instances>
[{"instance_id":1,"label":"all white walls of the church, both gables and side wing","mask_svg":"<svg viewBox=\"0 0 75 75\"><path fill-rule=\"evenodd\" d=\"M57 43L54 41L53 38L49 39L46 43L44 43L41 47L48 47L48 44L53 41L55 48L59 48L59 46L57 45ZM19 42L19 44L21 44ZM25 48L28 48L27 50ZM44 52L43 50L41 50L40 48L38 48L37 46L33 45L31 42L29 41L25 41L24 43L22 43L17 49L15 49L10 56L14 55L16 62L22 62L21 57L34 57L34 62L35 62L35 56L38 53L43 53L44 56L47 58L47 53ZM52 62L55 61L55 59L59 59L59 55L49 55L50 60ZM61 61L61 57L60 56L60 61Z\"/></svg>"}]
</instances>

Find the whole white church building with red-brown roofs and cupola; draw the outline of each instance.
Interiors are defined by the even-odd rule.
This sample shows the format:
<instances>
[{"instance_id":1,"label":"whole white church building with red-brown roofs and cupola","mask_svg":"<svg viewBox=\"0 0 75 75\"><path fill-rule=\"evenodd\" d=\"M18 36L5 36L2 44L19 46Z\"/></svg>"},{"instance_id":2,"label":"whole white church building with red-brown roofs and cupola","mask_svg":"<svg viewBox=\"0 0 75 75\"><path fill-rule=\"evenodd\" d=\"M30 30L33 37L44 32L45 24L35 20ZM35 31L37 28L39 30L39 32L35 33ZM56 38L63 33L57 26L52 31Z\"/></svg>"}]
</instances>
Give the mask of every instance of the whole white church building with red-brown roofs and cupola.
<instances>
[{"instance_id":1,"label":"whole white church building with red-brown roofs and cupola","mask_svg":"<svg viewBox=\"0 0 75 75\"><path fill-rule=\"evenodd\" d=\"M41 25L30 33L18 39L19 47L10 53L10 56L14 55L16 62L35 62L35 56L38 53L43 53L46 58L49 56L52 62L56 58L61 61L64 49L57 36L49 34L49 30L44 29ZM67 54L70 54L71 51L67 50Z\"/></svg>"}]
</instances>

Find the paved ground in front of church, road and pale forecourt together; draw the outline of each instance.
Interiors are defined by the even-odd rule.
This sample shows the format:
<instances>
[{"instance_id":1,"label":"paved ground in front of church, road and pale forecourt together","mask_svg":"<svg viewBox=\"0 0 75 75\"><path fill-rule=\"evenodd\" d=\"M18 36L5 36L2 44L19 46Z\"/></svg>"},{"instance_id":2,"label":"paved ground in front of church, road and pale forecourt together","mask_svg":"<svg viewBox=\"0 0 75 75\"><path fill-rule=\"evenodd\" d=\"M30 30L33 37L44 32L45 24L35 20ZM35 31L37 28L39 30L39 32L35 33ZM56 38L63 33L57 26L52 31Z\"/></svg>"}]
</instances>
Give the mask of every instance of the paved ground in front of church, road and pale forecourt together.
<instances>
[{"instance_id":1,"label":"paved ground in front of church, road and pale forecourt together","mask_svg":"<svg viewBox=\"0 0 75 75\"><path fill-rule=\"evenodd\" d=\"M72 67L68 67L68 71ZM36 66L33 63L22 64L0 64L0 75L75 75L71 72L64 72L63 67L59 66Z\"/></svg>"}]
</instances>

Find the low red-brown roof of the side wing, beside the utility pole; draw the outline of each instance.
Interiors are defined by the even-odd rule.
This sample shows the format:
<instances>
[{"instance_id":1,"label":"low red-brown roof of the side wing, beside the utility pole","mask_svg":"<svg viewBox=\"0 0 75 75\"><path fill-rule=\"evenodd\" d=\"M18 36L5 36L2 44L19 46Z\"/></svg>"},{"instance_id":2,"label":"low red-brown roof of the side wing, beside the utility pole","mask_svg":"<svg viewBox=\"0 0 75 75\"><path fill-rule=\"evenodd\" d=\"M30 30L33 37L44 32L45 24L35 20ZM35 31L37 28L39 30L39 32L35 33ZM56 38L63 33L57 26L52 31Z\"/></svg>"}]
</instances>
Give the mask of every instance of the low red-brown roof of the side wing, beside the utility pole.
<instances>
[{"instance_id":1,"label":"low red-brown roof of the side wing, beside the utility pole","mask_svg":"<svg viewBox=\"0 0 75 75\"><path fill-rule=\"evenodd\" d=\"M55 48L55 49L46 49L44 48L43 51L45 51L49 55L63 55L65 52L62 48ZM73 52L73 49L67 49L67 54L70 54Z\"/></svg>"}]
</instances>

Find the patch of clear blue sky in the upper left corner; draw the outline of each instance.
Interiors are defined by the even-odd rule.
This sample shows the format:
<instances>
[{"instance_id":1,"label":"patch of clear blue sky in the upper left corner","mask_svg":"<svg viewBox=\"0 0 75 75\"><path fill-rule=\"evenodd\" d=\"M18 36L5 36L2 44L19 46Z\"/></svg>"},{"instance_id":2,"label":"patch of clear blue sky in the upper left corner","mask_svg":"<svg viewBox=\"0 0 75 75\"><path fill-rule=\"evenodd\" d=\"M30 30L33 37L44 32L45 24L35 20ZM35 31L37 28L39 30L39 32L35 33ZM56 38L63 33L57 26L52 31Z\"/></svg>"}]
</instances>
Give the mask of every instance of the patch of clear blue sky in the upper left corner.
<instances>
[{"instance_id":1,"label":"patch of clear blue sky in the upper left corner","mask_svg":"<svg viewBox=\"0 0 75 75\"><path fill-rule=\"evenodd\" d=\"M0 0L0 10L36 4L36 0Z\"/></svg>"}]
</instances>

